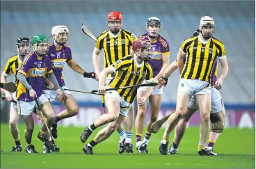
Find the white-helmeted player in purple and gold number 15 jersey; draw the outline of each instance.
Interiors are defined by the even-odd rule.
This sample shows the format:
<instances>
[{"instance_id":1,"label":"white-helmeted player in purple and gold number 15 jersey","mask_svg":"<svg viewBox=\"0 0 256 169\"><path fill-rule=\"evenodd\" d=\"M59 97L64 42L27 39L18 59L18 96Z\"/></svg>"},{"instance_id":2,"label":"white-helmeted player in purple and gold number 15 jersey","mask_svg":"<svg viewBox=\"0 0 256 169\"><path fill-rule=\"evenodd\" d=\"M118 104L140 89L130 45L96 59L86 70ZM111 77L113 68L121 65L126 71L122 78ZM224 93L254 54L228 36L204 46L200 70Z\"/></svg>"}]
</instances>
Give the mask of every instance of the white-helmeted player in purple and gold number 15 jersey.
<instances>
[{"instance_id":1,"label":"white-helmeted player in purple and gold number 15 jersey","mask_svg":"<svg viewBox=\"0 0 256 169\"><path fill-rule=\"evenodd\" d=\"M85 78L97 78L97 75L95 73L86 72L76 62L74 62L70 47L67 47L65 45L67 43L69 35L69 30L67 29L67 26L54 26L51 29L51 35L54 39L54 42L52 42L49 46L47 54L51 59L52 69L58 81L58 85L61 86L62 89L67 88L65 86L65 81L62 73L65 63L67 63L67 65L72 70L83 75L83 77ZM77 113L79 112L79 106L77 105L77 102L72 96L71 92L65 91L66 99L63 100L62 98L56 98L56 91L50 90L52 88L51 86L48 86L47 84L45 84L45 86L46 90L44 90L44 92L47 98L51 102L57 99L58 102L61 102L66 108L58 115L55 115L54 123L51 126L51 134L54 138L57 138L57 122L65 118L70 118L74 115L77 115ZM49 152L49 150L47 150L47 147L44 148L44 152Z\"/></svg>"}]
</instances>

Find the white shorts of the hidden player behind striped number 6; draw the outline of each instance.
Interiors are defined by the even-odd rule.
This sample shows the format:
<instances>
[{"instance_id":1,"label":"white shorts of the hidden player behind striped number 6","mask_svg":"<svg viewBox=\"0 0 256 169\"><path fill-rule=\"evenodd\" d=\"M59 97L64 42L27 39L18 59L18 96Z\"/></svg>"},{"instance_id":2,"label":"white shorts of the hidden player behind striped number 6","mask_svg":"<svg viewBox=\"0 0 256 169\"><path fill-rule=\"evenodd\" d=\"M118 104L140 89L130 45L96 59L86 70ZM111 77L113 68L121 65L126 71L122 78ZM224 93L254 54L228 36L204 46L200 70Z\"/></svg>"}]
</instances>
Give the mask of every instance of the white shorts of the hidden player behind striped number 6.
<instances>
[{"instance_id":1,"label":"white shorts of the hidden player behind striped number 6","mask_svg":"<svg viewBox=\"0 0 256 169\"><path fill-rule=\"evenodd\" d=\"M198 109L198 103L194 96L191 97L189 101L189 108ZM223 99L221 92L216 88L211 88L211 114L218 113L224 108Z\"/></svg>"}]
</instances>

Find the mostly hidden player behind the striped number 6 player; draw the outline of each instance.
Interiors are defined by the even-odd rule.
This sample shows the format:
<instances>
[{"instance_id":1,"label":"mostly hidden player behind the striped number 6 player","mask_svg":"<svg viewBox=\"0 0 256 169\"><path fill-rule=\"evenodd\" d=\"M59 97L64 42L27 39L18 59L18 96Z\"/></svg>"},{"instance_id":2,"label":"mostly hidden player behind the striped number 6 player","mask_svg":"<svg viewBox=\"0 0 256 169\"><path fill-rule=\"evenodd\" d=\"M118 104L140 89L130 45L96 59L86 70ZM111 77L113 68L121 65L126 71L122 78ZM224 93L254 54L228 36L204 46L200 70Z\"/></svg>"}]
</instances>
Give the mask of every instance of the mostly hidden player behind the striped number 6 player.
<instances>
[{"instance_id":1,"label":"mostly hidden player behind the striped number 6 player","mask_svg":"<svg viewBox=\"0 0 256 169\"><path fill-rule=\"evenodd\" d=\"M193 36L198 36L200 33L199 29L196 30L193 34ZM186 56L184 56L184 63L186 62ZM173 61L172 64L166 69L166 72L164 72L163 77L168 78L175 70L177 70L177 60ZM218 61L214 63L214 68L211 74L211 86L215 86L215 82L217 81L217 74L218 74ZM163 79L164 80L164 79ZM162 79L159 79L159 81L162 83L159 84L158 87L162 87L164 83L167 84L167 81L163 81ZM165 85L166 85L165 84ZM198 104L195 101L194 96L191 97L191 100L189 101L189 105L186 111L186 115L184 118L179 120L176 129L175 129L175 136L173 139L173 144L170 147L170 151L167 151L168 149L168 141L161 140L161 144L159 147L159 150L161 154L177 154L178 146L180 141L182 140L182 136L184 135L186 124L191 118L191 115L195 113L195 111L198 110ZM223 131L223 127L225 125L225 107L223 104L223 98L221 96L221 93L216 88L211 88L211 131L209 133L208 138L208 145L206 147L207 154L208 155L217 155L216 152L213 150L214 143L218 139L218 137L221 135L221 132Z\"/></svg>"}]
</instances>

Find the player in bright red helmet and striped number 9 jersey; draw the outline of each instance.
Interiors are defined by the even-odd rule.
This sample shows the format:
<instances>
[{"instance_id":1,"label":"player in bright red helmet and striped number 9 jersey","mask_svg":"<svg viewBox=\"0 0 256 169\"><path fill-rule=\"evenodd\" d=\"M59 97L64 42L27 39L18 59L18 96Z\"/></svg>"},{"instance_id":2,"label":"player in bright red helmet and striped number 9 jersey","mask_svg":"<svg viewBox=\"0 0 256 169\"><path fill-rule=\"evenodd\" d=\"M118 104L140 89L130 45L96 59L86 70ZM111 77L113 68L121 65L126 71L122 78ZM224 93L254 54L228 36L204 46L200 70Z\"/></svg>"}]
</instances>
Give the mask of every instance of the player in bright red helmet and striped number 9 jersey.
<instances>
[{"instance_id":1,"label":"player in bright red helmet and striped number 9 jersey","mask_svg":"<svg viewBox=\"0 0 256 169\"><path fill-rule=\"evenodd\" d=\"M136 40L136 35L125 29L122 29L122 13L118 11L112 11L109 13L106 24L108 24L109 29L102 32L97 37L97 42L95 49L93 51L93 65L95 67L95 72L99 77L99 53L104 50L104 65L103 69L109 67L109 65L115 63L119 59L128 56L132 53L131 46L134 40ZM113 78L113 74L109 74L106 78L106 86L109 81ZM103 100L104 101L104 100ZM125 129L122 128L122 124L118 127L118 133L120 135L119 141L119 153L133 152L133 145L131 143L132 129L134 127L134 106L131 104L127 118L125 118ZM81 141L83 142L83 135L81 134ZM84 143L84 142L83 142Z\"/></svg>"}]
</instances>

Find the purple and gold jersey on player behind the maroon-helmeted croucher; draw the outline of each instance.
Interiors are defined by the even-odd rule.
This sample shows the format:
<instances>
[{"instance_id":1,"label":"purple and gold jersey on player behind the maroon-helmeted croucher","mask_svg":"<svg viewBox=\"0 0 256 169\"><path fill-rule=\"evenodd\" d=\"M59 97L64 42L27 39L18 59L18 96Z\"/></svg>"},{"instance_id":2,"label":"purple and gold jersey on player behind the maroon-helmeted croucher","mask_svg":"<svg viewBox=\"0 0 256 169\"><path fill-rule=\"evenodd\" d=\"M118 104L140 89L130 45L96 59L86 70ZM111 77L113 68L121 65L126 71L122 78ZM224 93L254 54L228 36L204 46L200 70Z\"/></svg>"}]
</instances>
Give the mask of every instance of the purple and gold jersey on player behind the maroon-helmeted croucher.
<instances>
[{"instance_id":1,"label":"purple and gold jersey on player behind the maroon-helmeted croucher","mask_svg":"<svg viewBox=\"0 0 256 169\"><path fill-rule=\"evenodd\" d=\"M147 33L141 35L141 39L149 40ZM161 68L163 67L163 57L169 57L170 54L170 47L169 43L166 39L158 36L157 40L150 41L152 45L152 55L151 60L148 61L150 63L152 70L153 70L153 77L156 77L159 74Z\"/></svg>"}]
</instances>

